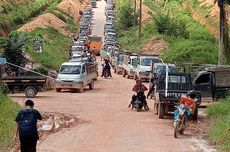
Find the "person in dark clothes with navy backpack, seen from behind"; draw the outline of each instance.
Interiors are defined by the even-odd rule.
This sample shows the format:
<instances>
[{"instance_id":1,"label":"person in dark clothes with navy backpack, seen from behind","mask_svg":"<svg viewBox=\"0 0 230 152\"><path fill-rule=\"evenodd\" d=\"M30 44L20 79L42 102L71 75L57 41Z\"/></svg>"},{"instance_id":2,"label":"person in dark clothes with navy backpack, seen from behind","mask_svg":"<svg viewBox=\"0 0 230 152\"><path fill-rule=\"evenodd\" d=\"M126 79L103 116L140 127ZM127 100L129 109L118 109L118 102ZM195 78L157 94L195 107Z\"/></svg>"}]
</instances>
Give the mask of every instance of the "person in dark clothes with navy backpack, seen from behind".
<instances>
[{"instance_id":1,"label":"person in dark clothes with navy backpack, seen from behind","mask_svg":"<svg viewBox=\"0 0 230 152\"><path fill-rule=\"evenodd\" d=\"M21 152L36 152L37 140L39 139L37 120L42 120L41 114L34 109L34 102L27 100L25 109L19 111L15 119L17 131L14 141L16 141L19 134Z\"/></svg>"}]
</instances>

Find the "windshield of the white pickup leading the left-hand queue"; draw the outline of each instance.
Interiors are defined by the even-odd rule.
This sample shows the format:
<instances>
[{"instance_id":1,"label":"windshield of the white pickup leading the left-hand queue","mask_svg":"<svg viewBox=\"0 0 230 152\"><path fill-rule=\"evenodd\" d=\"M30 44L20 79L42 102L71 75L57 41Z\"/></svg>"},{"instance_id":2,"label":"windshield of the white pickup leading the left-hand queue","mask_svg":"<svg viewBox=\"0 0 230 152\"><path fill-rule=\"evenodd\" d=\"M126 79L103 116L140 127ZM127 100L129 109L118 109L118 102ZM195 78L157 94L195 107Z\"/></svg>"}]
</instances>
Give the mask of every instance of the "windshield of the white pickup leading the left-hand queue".
<instances>
[{"instance_id":1,"label":"windshield of the white pickup leading the left-hand queue","mask_svg":"<svg viewBox=\"0 0 230 152\"><path fill-rule=\"evenodd\" d=\"M62 65L60 70L60 74L80 74L81 66L80 65Z\"/></svg>"}]
</instances>

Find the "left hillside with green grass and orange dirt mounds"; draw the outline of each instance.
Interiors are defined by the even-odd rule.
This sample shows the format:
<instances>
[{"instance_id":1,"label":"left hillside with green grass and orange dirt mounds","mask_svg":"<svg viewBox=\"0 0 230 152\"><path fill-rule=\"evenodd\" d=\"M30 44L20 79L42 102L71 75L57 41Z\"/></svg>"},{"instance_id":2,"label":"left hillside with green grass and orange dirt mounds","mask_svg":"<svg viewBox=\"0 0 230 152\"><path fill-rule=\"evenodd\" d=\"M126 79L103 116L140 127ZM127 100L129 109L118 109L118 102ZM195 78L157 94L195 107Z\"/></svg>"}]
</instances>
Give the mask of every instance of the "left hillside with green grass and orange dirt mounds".
<instances>
[{"instance_id":1,"label":"left hillside with green grass and orange dirt mounds","mask_svg":"<svg viewBox=\"0 0 230 152\"><path fill-rule=\"evenodd\" d=\"M34 52L33 43L28 43L24 52L32 56L33 62L57 69L68 58L72 37L78 31L79 11L87 4L88 0L0 1L0 36L17 30L41 39L42 53Z\"/></svg>"}]
</instances>

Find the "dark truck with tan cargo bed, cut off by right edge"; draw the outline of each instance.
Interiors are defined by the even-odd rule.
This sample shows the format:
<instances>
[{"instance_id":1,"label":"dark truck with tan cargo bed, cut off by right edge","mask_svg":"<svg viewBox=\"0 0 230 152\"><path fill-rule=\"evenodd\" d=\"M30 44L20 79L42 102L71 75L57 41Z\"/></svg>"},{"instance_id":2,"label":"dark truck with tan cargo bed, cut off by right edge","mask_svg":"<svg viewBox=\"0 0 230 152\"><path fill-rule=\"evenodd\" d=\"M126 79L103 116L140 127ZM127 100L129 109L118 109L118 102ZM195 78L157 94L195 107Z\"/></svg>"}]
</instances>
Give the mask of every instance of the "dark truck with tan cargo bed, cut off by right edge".
<instances>
[{"instance_id":1,"label":"dark truck with tan cargo bed, cut off by right edge","mask_svg":"<svg viewBox=\"0 0 230 152\"><path fill-rule=\"evenodd\" d=\"M213 101L225 97L230 92L230 67L209 67L198 73L194 88L202 97L212 97Z\"/></svg>"}]
</instances>

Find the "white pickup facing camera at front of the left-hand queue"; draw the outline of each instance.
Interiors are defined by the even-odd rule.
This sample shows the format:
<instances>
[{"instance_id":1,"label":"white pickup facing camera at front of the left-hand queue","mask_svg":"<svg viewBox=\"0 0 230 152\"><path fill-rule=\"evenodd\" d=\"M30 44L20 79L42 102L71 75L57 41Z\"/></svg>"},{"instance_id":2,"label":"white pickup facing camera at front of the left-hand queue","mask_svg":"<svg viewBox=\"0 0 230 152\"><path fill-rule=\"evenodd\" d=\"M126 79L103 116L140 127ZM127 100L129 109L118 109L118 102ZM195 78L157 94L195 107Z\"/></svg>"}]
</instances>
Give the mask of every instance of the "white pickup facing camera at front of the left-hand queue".
<instances>
[{"instance_id":1,"label":"white pickup facing camera at front of the left-hand queue","mask_svg":"<svg viewBox=\"0 0 230 152\"><path fill-rule=\"evenodd\" d=\"M55 83L56 92L62 89L84 92L84 87L94 88L94 81L98 77L97 63L65 62L61 65Z\"/></svg>"}]
</instances>

